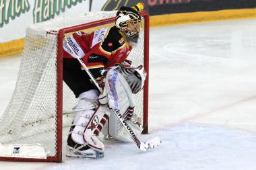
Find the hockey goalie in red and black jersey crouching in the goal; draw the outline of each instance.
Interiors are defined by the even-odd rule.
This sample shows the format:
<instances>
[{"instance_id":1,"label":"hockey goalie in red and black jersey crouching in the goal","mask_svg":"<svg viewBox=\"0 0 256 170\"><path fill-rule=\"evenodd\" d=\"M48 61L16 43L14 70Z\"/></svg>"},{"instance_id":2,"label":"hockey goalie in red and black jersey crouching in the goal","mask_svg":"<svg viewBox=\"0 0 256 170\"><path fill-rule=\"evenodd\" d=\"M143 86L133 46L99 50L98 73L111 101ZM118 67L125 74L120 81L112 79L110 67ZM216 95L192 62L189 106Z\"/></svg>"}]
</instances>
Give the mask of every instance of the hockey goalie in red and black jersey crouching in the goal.
<instances>
[{"instance_id":1,"label":"hockey goalie in red and black jersey crouching in the goal","mask_svg":"<svg viewBox=\"0 0 256 170\"><path fill-rule=\"evenodd\" d=\"M90 34L76 32L63 43L63 80L79 98L67 138L67 157L104 157L100 132L108 140L132 140L113 110L118 110L135 135L141 133L141 125L133 120L133 95L143 89L146 72L143 66L131 67L131 61L126 60L139 38L141 9L143 3L121 7L115 26Z\"/></svg>"}]
</instances>

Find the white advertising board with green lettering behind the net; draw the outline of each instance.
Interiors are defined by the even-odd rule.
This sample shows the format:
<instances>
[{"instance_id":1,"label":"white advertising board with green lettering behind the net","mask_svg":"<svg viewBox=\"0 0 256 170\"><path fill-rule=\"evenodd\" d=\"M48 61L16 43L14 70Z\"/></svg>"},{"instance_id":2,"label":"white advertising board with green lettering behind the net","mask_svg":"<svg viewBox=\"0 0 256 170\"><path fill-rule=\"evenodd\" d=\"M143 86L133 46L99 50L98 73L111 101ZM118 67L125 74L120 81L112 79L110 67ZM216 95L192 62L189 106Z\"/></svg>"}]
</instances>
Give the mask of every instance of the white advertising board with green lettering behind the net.
<instances>
[{"instance_id":1,"label":"white advertising board with green lettering behind the net","mask_svg":"<svg viewBox=\"0 0 256 170\"><path fill-rule=\"evenodd\" d=\"M29 24L58 16L98 11L106 1L0 0L0 43L24 38Z\"/></svg>"}]
</instances>

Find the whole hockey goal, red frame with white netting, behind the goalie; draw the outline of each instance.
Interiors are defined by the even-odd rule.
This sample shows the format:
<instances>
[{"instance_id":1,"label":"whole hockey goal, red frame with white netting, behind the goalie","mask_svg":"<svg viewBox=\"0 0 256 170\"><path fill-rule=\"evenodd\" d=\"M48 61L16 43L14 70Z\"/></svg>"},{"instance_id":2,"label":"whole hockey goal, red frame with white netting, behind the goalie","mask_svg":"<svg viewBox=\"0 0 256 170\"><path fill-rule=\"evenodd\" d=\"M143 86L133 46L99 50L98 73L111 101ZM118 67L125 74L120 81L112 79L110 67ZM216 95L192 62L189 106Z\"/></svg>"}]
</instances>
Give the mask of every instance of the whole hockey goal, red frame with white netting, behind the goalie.
<instances>
[{"instance_id":1,"label":"whole hockey goal, red frame with white netting, behind the goalie","mask_svg":"<svg viewBox=\"0 0 256 170\"><path fill-rule=\"evenodd\" d=\"M98 11L72 17L58 17L32 24L26 30L22 62L11 101L0 119L0 147L3 161L55 161L62 156L62 129L71 125L77 99L63 82L63 36L92 32L115 23L117 11ZM148 72L148 14L141 12L142 24L137 47L127 59ZM148 132L148 78L143 91L135 95L134 119ZM65 142L63 142L65 143ZM6 145L5 145L6 144ZM12 145L11 145L12 144ZM44 156L22 155L22 144L38 144ZM25 148L24 148L25 149ZM34 152L39 152L36 149Z\"/></svg>"}]
</instances>

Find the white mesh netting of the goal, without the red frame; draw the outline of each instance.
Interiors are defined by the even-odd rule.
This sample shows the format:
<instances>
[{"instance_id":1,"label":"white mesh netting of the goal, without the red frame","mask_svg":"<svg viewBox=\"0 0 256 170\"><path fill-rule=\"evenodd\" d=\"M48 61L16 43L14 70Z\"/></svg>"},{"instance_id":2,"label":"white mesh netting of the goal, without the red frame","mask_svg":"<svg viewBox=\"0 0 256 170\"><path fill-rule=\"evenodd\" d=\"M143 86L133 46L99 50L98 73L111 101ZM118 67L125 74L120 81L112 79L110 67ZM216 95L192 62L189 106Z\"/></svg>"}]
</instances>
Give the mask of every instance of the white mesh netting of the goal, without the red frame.
<instances>
[{"instance_id":1,"label":"white mesh netting of the goal, without the red frame","mask_svg":"<svg viewBox=\"0 0 256 170\"><path fill-rule=\"evenodd\" d=\"M27 28L15 90L0 119L1 144L40 143L50 151L49 156L56 155L57 34L63 28L115 17L116 12L98 11L72 17L58 17ZM90 32L96 29L98 28L90 28ZM133 61L134 67L143 65L143 45L142 24L137 48L128 58ZM142 123L143 91L135 95L135 100L134 118ZM77 99L63 82L63 126L70 126L73 119L72 108L76 103Z\"/></svg>"}]
</instances>

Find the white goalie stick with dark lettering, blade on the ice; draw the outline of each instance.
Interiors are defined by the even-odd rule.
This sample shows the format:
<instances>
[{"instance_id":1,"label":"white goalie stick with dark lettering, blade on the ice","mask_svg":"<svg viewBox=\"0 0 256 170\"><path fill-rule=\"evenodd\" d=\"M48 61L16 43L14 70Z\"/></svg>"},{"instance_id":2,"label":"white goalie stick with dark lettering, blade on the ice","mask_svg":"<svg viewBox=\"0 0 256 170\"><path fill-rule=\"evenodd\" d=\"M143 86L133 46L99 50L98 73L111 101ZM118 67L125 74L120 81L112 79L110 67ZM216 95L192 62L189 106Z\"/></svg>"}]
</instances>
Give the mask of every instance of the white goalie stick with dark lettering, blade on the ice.
<instances>
[{"instance_id":1,"label":"white goalie stick with dark lettering, blade on the ice","mask_svg":"<svg viewBox=\"0 0 256 170\"><path fill-rule=\"evenodd\" d=\"M82 60L82 58L79 58L79 56L77 55L75 50L73 50L73 48L70 46L69 42L67 42L67 39L64 38L64 40L65 40L65 43L67 44L67 46L70 48L70 50L75 55L75 58L77 58L77 60L80 62L80 64L82 65L82 67L84 68L86 73L88 73L89 77L92 79L92 81L94 82L94 84L96 85L96 87L98 88L100 93L102 93L103 92L102 89L96 82L95 78L93 77L92 73L89 71L88 67L86 67L86 65L84 64L84 61ZM127 124L127 122L125 121L125 119L123 118L123 116L119 112L119 110L114 110L113 108L112 108L112 110L113 110L115 116L117 116L117 118L119 119L121 124L123 124L123 127L125 128L125 130L128 132L128 134L131 136L131 138L133 139L133 141L135 142L135 144L141 151L148 151L148 150L155 148L156 146L159 146L161 144L161 140L159 137L152 138L151 140L148 140L147 142L141 142L137 138L137 136L135 135L133 130L130 128L129 124Z\"/></svg>"}]
</instances>

